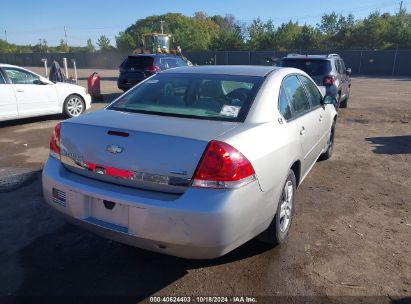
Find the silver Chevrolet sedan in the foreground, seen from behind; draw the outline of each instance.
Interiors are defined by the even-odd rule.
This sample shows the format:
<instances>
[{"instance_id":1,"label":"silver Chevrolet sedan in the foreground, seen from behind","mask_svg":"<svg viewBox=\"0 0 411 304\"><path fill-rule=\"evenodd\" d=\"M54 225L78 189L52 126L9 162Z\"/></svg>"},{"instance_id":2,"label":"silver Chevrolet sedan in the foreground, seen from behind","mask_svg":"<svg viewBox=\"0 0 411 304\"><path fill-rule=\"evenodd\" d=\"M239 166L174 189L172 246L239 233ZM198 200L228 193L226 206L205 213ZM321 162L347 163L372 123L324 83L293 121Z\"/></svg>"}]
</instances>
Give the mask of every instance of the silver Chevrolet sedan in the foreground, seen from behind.
<instances>
[{"instance_id":1,"label":"silver Chevrolet sedan in the foreground, seen from behind","mask_svg":"<svg viewBox=\"0 0 411 304\"><path fill-rule=\"evenodd\" d=\"M56 125L43 193L70 221L185 258L282 243L297 187L331 157L337 112L301 70L162 71Z\"/></svg>"}]
</instances>

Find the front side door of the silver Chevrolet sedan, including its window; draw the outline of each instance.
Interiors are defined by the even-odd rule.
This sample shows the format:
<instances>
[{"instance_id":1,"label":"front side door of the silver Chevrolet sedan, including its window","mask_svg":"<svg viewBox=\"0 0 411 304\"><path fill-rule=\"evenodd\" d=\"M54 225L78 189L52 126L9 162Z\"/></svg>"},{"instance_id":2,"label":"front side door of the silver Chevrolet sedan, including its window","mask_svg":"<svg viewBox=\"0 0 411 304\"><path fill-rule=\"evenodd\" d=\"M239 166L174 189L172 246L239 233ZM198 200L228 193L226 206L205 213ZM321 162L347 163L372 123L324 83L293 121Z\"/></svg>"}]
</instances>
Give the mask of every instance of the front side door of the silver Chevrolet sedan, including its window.
<instances>
[{"instance_id":1,"label":"front side door of the silver Chevrolet sedan, including its window","mask_svg":"<svg viewBox=\"0 0 411 304\"><path fill-rule=\"evenodd\" d=\"M313 116L315 116L315 123L317 124L316 130L318 132L316 150L319 155L323 147L326 145L329 137L329 126L331 125L330 116L327 115L325 107L321 106L322 95L314 82L304 75L298 75L298 78L300 78L306 89L311 103L311 111L313 112Z\"/></svg>"}]
</instances>

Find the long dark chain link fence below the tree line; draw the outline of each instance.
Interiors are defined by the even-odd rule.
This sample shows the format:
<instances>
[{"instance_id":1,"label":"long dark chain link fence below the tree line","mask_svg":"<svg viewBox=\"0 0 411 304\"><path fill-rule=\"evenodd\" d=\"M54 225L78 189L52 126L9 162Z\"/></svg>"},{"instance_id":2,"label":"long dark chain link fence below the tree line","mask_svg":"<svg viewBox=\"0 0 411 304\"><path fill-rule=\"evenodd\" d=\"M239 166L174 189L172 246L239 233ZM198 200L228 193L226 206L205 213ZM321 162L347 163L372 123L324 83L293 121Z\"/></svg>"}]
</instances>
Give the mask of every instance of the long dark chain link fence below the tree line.
<instances>
[{"instance_id":1,"label":"long dark chain link fence below the tree line","mask_svg":"<svg viewBox=\"0 0 411 304\"><path fill-rule=\"evenodd\" d=\"M288 53L270 51L201 51L185 52L184 55L197 65L272 65ZM315 50L303 54L337 53L352 69L353 75L375 76L411 76L411 50ZM19 66L41 66L42 58L47 58L49 65L53 60L62 64L63 58L76 60L78 68L112 69L118 68L126 52L109 53L31 53L31 54L0 54L1 63Z\"/></svg>"}]
</instances>

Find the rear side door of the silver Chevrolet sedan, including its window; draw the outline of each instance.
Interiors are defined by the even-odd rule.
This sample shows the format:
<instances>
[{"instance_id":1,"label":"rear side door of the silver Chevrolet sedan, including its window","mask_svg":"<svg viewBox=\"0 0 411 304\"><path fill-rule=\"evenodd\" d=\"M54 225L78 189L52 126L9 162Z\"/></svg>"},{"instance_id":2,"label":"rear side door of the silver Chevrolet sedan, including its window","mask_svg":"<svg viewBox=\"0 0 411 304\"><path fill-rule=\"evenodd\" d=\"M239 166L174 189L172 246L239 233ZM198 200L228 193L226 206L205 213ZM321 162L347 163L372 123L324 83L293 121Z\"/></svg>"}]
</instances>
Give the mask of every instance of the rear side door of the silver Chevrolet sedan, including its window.
<instances>
[{"instance_id":1,"label":"rear side door of the silver Chevrolet sedan, including its window","mask_svg":"<svg viewBox=\"0 0 411 304\"><path fill-rule=\"evenodd\" d=\"M302 162L301 173L304 176L318 157L318 113L312 111L306 91L297 75L284 79L283 88L291 104L292 117L297 124L297 136L300 138Z\"/></svg>"}]
</instances>

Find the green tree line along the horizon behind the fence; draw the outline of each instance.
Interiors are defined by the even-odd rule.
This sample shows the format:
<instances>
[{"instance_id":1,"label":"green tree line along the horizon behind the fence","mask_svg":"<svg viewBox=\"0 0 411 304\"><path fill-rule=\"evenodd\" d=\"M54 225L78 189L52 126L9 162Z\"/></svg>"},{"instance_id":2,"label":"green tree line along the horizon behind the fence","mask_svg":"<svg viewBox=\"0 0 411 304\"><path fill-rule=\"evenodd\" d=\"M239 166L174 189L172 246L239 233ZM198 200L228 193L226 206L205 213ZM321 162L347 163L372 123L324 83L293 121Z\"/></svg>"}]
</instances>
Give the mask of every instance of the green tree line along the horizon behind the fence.
<instances>
[{"instance_id":1,"label":"green tree line along the horizon behind the fence","mask_svg":"<svg viewBox=\"0 0 411 304\"><path fill-rule=\"evenodd\" d=\"M161 32L161 25L165 33L172 34L174 45L185 51L411 49L411 14L403 9L395 15L376 11L363 19L352 14L324 14L316 26L291 20L275 26L273 21L259 18L244 24L232 15L168 13L137 20L115 37L116 47L106 36L99 37L97 46L89 39L84 47L69 47L64 40L56 47L48 46L45 39L34 46L0 40L0 52L132 51L140 46L143 34Z\"/></svg>"}]
</instances>

